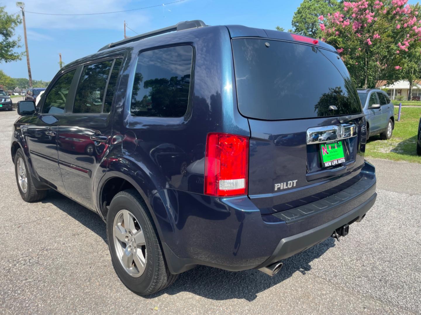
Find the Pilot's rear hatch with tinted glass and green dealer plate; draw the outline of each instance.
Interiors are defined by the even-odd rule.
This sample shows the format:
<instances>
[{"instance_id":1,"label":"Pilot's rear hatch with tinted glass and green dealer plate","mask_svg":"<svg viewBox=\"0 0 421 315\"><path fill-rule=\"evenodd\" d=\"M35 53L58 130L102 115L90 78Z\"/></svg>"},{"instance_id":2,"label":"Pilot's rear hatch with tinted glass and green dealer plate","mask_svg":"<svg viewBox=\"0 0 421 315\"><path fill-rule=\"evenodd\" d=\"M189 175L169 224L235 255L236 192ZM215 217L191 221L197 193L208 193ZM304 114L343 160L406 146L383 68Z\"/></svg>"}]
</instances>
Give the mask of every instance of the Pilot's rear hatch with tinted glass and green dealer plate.
<instances>
[{"instance_id":1,"label":"Pilot's rear hatch with tinted glass and green dealer plate","mask_svg":"<svg viewBox=\"0 0 421 315\"><path fill-rule=\"evenodd\" d=\"M232 39L251 133L248 195L262 214L344 191L364 165L365 118L344 63L317 40L288 36Z\"/></svg>"}]
</instances>

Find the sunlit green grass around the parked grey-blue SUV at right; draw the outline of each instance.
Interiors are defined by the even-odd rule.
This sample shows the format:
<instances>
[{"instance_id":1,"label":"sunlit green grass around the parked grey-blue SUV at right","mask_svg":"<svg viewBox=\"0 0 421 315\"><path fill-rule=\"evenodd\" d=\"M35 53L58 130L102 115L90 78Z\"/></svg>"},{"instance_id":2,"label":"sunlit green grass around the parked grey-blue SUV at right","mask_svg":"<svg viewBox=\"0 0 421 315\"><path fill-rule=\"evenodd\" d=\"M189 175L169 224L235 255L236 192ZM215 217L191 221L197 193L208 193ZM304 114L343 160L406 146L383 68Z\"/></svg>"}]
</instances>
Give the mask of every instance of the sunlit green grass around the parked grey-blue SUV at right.
<instances>
[{"instance_id":1,"label":"sunlit green grass around the parked grey-blue SUV at right","mask_svg":"<svg viewBox=\"0 0 421 315\"><path fill-rule=\"evenodd\" d=\"M400 121L397 121L398 108L394 109L394 113L395 126L392 138L389 140L381 140L378 135L370 137L365 147L365 156L421 163L421 156L416 155L418 122L421 116L421 107L403 107Z\"/></svg>"}]
</instances>

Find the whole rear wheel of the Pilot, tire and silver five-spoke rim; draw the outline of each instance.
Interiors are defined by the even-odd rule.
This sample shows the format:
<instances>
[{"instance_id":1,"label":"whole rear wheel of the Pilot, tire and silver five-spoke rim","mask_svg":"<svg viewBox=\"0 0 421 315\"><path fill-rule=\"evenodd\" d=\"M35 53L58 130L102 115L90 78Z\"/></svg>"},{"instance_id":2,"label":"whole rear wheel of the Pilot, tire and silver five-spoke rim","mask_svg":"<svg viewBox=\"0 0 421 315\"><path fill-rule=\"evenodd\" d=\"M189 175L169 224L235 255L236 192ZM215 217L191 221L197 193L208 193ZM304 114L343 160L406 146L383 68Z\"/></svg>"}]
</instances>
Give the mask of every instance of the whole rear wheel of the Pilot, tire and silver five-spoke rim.
<instances>
[{"instance_id":1,"label":"whole rear wheel of the Pilot, tire and silver five-spoke rim","mask_svg":"<svg viewBox=\"0 0 421 315\"><path fill-rule=\"evenodd\" d=\"M148 295L172 284L152 216L135 189L119 192L107 213L107 239L117 276L132 291Z\"/></svg>"}]
</instances>

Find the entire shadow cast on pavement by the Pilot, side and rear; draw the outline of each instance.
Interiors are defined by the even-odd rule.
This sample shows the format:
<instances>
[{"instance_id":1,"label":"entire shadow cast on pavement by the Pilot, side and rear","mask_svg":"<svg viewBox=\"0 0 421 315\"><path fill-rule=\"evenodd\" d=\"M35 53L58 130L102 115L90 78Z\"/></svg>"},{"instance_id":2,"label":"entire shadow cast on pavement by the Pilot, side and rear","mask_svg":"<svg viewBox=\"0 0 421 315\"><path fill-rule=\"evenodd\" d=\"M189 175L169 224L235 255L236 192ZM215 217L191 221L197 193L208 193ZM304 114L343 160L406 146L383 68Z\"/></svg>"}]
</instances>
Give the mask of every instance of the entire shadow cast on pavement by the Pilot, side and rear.
<instances>
[{"instance_id":1,"label":"entire shadow cast on pavement by the Pilot, side and rear","mask_svg":"<svg viewBox=\"0 0 421 315\"><path fill-rule=\"evenodd\" d=\"M55 205L64 213L82 223L86 228L101 236L104 242L107 243L106 225L96 213L53 190L50 190L48 197L42 202ZM274 277L270 277L258 270L231 272L199 265L181 273L177 281L167 289L145 298L154 298L163 294L175 295L181 292L191 292L207 299L245 299L253 301L258 293L290 278L297 271L305 275L312 269L310 263L334 246L335 240L328 238L304 252L285 259L282 269Z\"/></svg>"}]
</instances>

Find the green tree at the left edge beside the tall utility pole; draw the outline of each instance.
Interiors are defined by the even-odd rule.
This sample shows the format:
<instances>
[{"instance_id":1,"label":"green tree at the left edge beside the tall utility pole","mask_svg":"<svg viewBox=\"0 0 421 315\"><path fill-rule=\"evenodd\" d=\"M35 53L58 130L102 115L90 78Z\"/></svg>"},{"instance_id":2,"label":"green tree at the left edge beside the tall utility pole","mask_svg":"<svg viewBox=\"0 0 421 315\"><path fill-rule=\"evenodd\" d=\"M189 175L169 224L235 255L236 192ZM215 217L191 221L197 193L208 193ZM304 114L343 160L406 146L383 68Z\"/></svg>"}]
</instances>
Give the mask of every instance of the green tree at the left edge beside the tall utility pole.
<instances>
[{"instance_id":1,"label":"green tree at the left edge beside the tall utility pole","mask_svg":"<svg viewBox=\"0 0 421 315\"><path fill-rule=\"evenodd\" d=\"M13 39L16 26L22 23L18 14L8 14L5 7L0 7L0 63L21 60L24 53L15 52L16 48L21 47L21 37Z\"/></svg>"}]
</instances>

